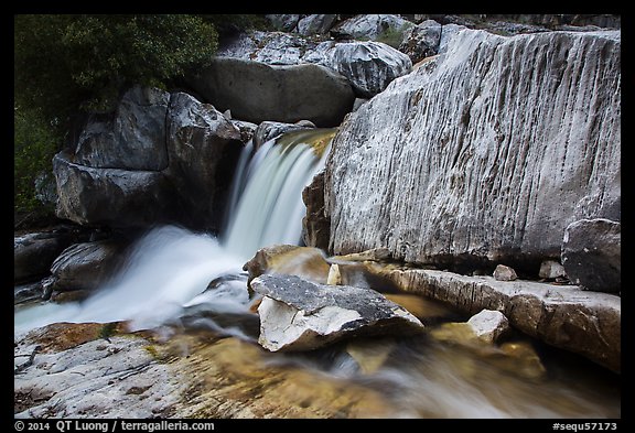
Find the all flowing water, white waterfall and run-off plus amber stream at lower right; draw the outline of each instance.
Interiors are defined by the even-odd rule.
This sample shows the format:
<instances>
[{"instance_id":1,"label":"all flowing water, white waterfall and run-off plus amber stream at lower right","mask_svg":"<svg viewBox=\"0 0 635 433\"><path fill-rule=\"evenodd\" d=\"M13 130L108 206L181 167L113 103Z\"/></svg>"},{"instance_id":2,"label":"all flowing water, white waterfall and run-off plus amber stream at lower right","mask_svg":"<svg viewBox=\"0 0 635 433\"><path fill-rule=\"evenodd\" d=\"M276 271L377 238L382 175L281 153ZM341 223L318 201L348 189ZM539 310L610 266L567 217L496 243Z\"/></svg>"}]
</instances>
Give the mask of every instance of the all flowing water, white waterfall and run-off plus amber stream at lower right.
<instances>
[{"instance_id":1,"label":"all flowing water, white waterfall and run-off plus amber stream at lower right","mask_svg":"<svg viewBox=\"0 0 635 433\"><path fill-rule=\"evenodd\" d=\"M219 238L157 227L89 299L17 310L15 335L56 322L128 321L131 331L185 324L257 345L243 266L261 247L300 243L301 192L322 169L334 132L287 133L257 150L248 144ZM375 390L396 408L392 416L621 416L618 375L521 335L501 347L394 336L266 359Z\"/></svg>"}]
</instances>

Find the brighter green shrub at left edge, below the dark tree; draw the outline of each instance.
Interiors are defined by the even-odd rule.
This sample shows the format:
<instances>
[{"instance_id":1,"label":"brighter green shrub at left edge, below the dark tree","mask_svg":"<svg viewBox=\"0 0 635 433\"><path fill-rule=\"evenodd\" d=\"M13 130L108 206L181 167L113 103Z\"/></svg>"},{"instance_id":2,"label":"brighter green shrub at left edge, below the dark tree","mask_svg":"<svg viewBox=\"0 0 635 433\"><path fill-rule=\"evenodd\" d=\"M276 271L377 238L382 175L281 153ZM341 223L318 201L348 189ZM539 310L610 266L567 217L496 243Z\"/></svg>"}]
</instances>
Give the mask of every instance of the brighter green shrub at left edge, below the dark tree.
<instances>
[{"instance_id":1,"label":"brighter green shrub at left edge, below the dark tree","mask_svg":"<svg viewBox=\"0 0 635 433\"><path fill-rule=\"evenodd\" d=\"M60 139L34 110L14 108L13 119L13 210L52 214L52 206L36 198L35 180L51 173Z\"/></svg>"}]
</instances>

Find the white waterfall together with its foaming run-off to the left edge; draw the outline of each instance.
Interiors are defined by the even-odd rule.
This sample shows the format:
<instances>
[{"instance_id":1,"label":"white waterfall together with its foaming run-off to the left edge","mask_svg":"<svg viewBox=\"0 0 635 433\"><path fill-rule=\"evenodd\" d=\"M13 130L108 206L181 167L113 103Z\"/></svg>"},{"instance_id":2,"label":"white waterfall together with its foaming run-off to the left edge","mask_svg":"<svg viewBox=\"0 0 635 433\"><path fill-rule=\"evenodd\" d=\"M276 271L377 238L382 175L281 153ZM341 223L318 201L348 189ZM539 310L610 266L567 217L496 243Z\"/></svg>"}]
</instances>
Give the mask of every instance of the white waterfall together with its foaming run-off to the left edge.
<instances>
[{"instance_id":1,"label":"white waterfall together with its foaming run-off to the left edge","mask_svg":"<svg viewBox=\"0 0 635 433\"><path fill-rule=\"evenodd\" d=\"M249 142L236 167L219 239L181 227L154 228L94 295L80 303L44 303L18 311L15 333L55 322L129 321L131 329L152 328L179 322L195 310L249 314L243 264L261 247L300 242L302 190L323 166L334 134L335 129L292 131L258 150ZM216 280L219 285L206 291ZM245 337L232 326L211 326Z\"/></svg>"}]
</instances>

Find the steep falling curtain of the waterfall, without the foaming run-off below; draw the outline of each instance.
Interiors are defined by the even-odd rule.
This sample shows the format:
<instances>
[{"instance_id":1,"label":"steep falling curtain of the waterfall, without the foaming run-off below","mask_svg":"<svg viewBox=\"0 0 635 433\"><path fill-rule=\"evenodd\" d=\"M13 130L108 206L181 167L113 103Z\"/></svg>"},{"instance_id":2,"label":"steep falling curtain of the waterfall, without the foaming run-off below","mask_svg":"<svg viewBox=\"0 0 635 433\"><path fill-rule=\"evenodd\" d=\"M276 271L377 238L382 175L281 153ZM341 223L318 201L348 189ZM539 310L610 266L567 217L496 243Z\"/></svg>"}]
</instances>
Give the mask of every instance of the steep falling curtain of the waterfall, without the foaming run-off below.
<instances>
[{"instance_id":1,"label":"steep falling curtain of the waterfall, without the foaming run-off below","mask_svg":"<svg viewBox=\"0 0 635 433\"><path fill-rule=\"evenodd\" d=\"M278 145L273 145L276 139L269 140L251 160L252 144L245 148L223 234L228 251L248 259L265 246L300 243L302 190L323 166L327 153L319 150L320 156L312 143L323 138L330 141L334 134L331 129L311 132L289 133L291 138Z\"/></svg>"}]
</instances>

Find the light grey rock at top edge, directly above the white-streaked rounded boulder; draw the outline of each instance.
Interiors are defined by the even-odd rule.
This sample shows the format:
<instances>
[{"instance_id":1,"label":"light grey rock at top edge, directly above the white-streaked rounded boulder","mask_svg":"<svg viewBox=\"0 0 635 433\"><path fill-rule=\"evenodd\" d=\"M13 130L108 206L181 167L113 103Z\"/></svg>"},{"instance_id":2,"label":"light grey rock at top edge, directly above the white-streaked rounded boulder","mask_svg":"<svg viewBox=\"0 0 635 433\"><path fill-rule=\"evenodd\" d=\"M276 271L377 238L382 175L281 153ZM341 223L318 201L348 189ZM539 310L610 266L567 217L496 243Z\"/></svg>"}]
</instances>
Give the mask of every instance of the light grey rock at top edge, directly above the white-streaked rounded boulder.
<instances>
[{"instance_id":1,"label":"light grey rock at top edge, directly above the white-streaked rounded boulder","mask_svg":"<svg viewBox=\"0 0 635 433\"><path fill-rule=\"evenodd\" d=\"M391 14L362 14L353 17L336 25L334 30L357 40L381 41L399 46L403 33L415 23Z\"/></svg>"}]
</instances>

